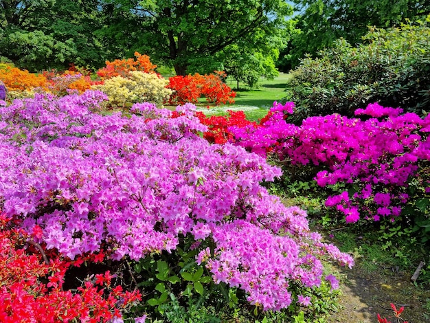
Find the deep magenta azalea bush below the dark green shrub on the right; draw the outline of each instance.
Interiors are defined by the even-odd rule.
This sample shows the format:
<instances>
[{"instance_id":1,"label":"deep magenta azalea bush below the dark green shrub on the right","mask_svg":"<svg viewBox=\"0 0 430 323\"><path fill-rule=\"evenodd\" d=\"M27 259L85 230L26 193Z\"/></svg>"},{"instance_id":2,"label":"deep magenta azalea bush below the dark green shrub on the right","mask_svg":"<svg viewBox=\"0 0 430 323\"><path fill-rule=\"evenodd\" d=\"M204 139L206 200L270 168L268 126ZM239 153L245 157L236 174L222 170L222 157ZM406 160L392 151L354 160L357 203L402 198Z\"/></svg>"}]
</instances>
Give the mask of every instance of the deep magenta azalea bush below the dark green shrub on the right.
<instances>
[{"instance_id":1,"label":"deep magenta azalea bush below the dark green shrub on the right","mask_svg":"<svg viewBox=\"0 0 430 323\"><path fill-rule=\"evenodd\" d=\"M248 151L262 156L275 153L287 163L322 168L315 178L319 186L354 186L353 194L345 190L326 201L347 222L357 222L363 215L378 221L400 214L409 198L408 180L416 177L420 163L430 160L430 115L422 119L375 103L356 111L367 120L332 114L307 118L295 126L286 122L292 109L293 102L283 106L275 102L261 127L229 130L236 144ZM420 181L429 192L428 178Z\"/></svg>"}]
</instances>

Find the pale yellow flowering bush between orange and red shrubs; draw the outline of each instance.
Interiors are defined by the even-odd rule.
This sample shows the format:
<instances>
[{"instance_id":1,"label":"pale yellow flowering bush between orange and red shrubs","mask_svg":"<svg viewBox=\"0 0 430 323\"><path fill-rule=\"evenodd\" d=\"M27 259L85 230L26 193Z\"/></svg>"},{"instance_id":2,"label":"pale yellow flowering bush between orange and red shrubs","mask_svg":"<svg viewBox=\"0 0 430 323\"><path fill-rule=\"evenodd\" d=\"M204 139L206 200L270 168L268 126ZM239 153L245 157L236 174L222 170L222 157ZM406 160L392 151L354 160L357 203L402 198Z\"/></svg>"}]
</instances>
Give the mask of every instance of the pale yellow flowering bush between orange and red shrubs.
<instances>
[{"instance_id":1,"label":"pale yellow flowering bush between orange and red shrubs","mask_svg":"<svg viewBox=\"0 0 430 323\"><path fill-rule=\"evenodd\" d=\"M166 89L168 80L154 73L131 71L126 78L115 76L104 81L104 85L96 85L109 96L109 104L125 107L127 103L153 102L157 105L168 100L171 89Z\"/></svg>"}]
</instances>

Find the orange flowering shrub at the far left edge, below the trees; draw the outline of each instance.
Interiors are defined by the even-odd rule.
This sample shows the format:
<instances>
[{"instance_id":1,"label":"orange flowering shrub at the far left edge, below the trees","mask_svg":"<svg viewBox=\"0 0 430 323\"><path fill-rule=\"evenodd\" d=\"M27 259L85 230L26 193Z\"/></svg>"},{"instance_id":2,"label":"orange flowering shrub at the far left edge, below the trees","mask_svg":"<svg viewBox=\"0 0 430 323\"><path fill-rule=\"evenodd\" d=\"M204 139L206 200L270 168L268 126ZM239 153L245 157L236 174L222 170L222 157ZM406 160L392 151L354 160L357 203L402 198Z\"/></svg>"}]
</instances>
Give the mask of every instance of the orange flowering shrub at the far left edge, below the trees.
<instances>
[{"instance_id":1,"label":"orange flowering shrub at the far left edge, below the trees","mask_svg":"<svg viewBox=\"0 0 430 323\"><path fill-rule=\"evenodd\" d=\"M45 89L47 79L40 74L32 74L27 70L21 70L10 65L2 65L0 68L0 80L9 91L31 91L35 87Z\"/></svg>"}]
</instances>

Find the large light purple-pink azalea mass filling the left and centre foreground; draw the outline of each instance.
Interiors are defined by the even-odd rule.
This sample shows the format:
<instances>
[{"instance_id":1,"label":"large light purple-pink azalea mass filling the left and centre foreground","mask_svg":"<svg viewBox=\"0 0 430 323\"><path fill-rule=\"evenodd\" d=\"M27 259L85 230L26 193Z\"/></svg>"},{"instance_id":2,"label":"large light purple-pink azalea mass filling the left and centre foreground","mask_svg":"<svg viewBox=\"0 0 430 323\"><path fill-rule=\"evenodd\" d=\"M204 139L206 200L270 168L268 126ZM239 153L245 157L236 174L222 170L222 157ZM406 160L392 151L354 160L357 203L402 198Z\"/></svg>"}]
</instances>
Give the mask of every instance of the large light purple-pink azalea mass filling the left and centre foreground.
<instances>
[{"instance_id":1,"label":"large light purple-pink azalea mass filling the left and centre foreground","mask_svg":"<svg viewBox=\"0 0 430 323\"><path fill-rule=\"evenodd\" d=\"M196 262L275 310L295 298L291 283L321 283L321 258L353 265L310 232L306 212L260 185L280 168L199 136L206 126L194 105L139 103L132 115L102 115L103 100L98 91L36 94L0 107L0 207L30 232L40 226L37 242L71 259L103 246L113 260L139 260L174 252L180 236L197 248L210 239L214 249L201 243Z\"/></svg>"}]
</instances>

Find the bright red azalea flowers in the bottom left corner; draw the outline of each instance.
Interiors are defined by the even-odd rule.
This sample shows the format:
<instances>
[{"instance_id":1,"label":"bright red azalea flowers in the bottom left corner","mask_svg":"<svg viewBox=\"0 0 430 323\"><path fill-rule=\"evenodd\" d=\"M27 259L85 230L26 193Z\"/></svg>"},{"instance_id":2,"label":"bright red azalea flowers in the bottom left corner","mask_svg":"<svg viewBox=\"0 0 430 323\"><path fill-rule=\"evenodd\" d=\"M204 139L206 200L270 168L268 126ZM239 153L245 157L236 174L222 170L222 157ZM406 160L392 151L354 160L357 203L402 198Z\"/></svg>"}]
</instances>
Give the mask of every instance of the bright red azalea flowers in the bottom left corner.
<instances>
[{"instance_id":1,"label":"bright red azalea flowers in the bottom left corner","mask_svg":"<svg viewBox=\"0 0 430 323\"><path fill-rule=\"evenodd\" d=\"M32 235L38 234L36 227ZM0 322L107 322L121 318L121 309L141 299L139 291L111 287L109 271L96 275L95 283L87 279L76 293L63 291L67 269L84 259L48 260L43 253L43 261L41 246L31 239L0 214Z\"/></svg>"}]
</instances>

